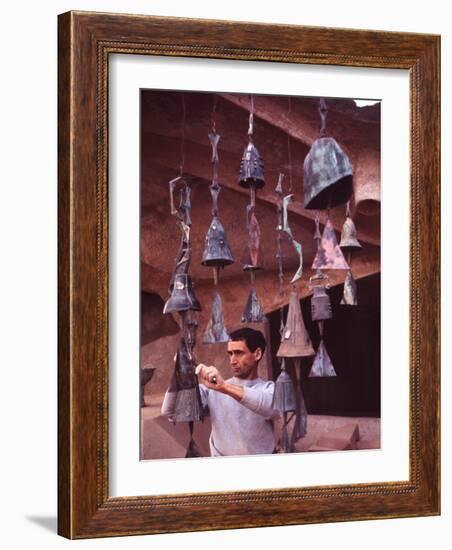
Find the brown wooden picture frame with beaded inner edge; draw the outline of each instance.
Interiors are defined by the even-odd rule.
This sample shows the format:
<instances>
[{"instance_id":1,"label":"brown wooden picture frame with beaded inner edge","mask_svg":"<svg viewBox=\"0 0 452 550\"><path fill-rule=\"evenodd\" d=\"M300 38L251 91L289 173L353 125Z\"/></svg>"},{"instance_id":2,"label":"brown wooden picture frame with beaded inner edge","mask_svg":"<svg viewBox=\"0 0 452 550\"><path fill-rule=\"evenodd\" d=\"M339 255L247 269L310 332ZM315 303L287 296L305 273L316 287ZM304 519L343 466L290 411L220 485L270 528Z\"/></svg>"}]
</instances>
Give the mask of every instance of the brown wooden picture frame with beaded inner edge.
<instances>
[{"instance_id":1,"label":"brown wooden picture frame with beaded inner edge","mask_svg":"<svg viewBox=\"0 0 452 550\"><path fill-rule=\"evenodd\" d=\"M69 12L59 16L58 46L59 534L89 538L439 514L440 38ZM111 54L409 71L409 480L109 495Z\"/></svg>"}]
</instances>

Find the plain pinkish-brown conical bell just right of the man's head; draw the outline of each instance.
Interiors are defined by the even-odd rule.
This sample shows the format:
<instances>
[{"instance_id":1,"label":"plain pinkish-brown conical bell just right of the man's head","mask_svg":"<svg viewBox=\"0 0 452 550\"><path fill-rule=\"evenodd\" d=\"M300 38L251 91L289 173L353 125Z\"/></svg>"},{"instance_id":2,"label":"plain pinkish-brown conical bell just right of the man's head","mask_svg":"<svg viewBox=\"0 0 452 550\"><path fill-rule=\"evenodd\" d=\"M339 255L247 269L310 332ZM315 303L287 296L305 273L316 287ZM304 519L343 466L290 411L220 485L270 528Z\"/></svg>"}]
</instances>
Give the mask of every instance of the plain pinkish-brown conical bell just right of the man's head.
<instances>
[{"instance_id":1,"label":"plain pinkish-brown conical bell just right of the man's head","mask_svg":"<svg viewBox=\"0 0 452 550\"><path fill-rule=\"evenodd\" d=\"M314 355L311 338L306 330L300 301L297 293L292 291L289 297L289 310L286 324L281 335L278 357L308 357Z\"/></svg>"}]
</instances>

